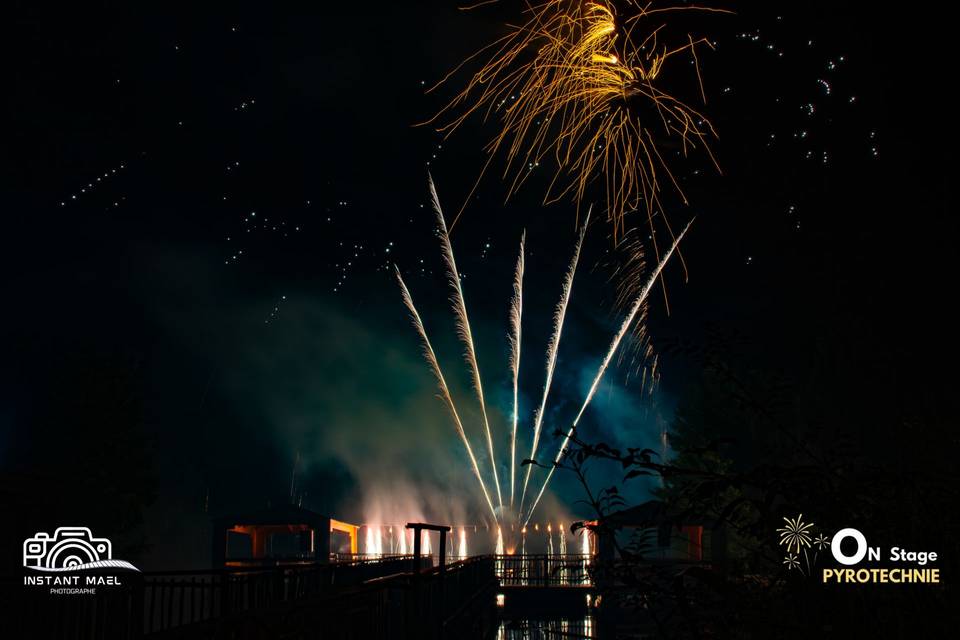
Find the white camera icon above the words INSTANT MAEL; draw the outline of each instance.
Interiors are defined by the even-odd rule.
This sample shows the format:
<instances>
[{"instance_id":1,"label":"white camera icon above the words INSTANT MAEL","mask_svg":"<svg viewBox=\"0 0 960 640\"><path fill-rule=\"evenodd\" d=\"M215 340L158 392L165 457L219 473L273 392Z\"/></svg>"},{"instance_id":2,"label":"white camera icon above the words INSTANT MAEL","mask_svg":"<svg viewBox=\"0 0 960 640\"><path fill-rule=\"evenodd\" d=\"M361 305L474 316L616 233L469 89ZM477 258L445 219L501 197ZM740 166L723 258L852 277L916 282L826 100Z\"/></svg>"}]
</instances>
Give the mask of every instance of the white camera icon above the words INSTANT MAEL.
<instances>
[{"instance_id":1,"label":"white camera icon above the words INSTANT MAEL","mask_svg":"<svg viewBox=\"0 0 960 640\"><path fill-rule=\"evenodd\" d=\"M23 541L23 566L40 571L81 571L124 568L137 571L129 562L113 559L107 538L95 538L87 527L58 527L54 534L38 532Z\"/></svg>"}]
</instances>

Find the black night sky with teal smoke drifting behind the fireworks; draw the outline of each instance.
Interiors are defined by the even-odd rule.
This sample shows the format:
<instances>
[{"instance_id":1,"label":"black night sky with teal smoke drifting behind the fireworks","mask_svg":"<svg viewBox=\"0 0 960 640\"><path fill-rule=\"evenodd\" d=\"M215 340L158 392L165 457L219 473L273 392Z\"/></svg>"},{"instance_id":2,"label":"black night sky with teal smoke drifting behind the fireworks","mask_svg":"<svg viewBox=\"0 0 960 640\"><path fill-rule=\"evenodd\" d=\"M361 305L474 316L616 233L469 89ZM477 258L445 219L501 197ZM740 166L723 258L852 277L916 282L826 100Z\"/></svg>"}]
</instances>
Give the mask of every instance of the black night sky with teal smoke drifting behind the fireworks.
<instances>
[{"instance_id":1,"label":"black night sky with teal smoke drifting behind the fireworks","mask_svg":"<svg viewBox=\"0 0 960 640\"><path fill-rule=\"evenodd\" d=\"M426 514L482 515L390 269L466 405L427 175L455 213L495 128L474 119L444 140L413 125L466 76L425 87L501 35L514 4L20 4L0 230L0 469L23 514L13 534L99 518L144 538L142 566L197 565L211 515L289 500L298 452L297 494L317 511L362 520L389 489ZM945 27L847 3L730 8L692 20L717 41L701 64L723 173L694 158L678 174L690 206L667 198L673 220L696 221L689 281L668 268L669 315L659 289L651 299L660 386L643 395L626 368L611 371L584 431L658 446L698 375L671 346L723 335L801 386L819 358L837 374L824 404L854 442L870 455L911 443L922 465L918 434L880 445L873 429L907 404L949 413ZM498 175L453 243L505 436L520 234L530 416L577 218L571 202L541 206L548 171L506 204ZM611 232L596 216L548 425L567 426L617 326ZM831 364L838 350L847 372ZM552 488L549 508L576 513L572 480Z\"/></svg>"}]
</instances>

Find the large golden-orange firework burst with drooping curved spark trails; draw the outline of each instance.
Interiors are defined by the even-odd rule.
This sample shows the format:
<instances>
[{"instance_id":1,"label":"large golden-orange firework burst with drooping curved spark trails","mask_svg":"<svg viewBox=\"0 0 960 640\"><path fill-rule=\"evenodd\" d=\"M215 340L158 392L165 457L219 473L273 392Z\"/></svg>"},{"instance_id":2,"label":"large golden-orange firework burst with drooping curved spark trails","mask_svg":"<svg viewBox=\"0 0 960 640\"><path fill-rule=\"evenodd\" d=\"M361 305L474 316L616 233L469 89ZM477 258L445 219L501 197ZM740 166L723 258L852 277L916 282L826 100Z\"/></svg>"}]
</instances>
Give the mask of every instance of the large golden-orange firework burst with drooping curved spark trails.
<instances>
[{"instance_id":1,"label":"large golden-orange firework burst with drooping curved spark trails","mask_svg":"<svg viewBox=\"0 0 960 640\"><path fill-rule=\"evenodd\" d=\"M719 170L709 145L716 137L710 121L663 88L668 61L689 55L706 102L697 49L713 44L686 31L681 35L666 21L691 10L730 13L700 6L653 8L639 0L527 5L526 22L464 61L493 52L428 124L449 115L437 129L450 135L473 114L498 118L480 178L503 152L504 178L513 176L508 198L542 161L552 159L555 175L544 203L572 196L579 209L588 185L602 173L615 233L635 210L644 210L652 225L662 213L665 185L687 202L665 160L664 140L679 143L684 156L703 150Z\"/></svg>"}]
</instances>

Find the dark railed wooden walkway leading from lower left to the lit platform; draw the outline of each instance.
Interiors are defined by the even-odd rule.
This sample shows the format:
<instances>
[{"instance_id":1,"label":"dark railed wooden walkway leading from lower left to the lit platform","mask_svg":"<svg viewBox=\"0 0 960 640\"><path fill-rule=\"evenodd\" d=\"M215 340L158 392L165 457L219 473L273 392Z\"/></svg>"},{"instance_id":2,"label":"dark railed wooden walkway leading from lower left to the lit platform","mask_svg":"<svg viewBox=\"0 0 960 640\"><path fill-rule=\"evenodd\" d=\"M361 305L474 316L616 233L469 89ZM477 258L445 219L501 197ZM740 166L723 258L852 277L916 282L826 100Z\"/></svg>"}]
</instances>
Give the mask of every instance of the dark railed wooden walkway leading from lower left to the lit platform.
<instances>
[{"instance_id":1,"label":"dark railed wooden walkway leading from lower left to the lit platform","mask_svg":"<svg viewBox=\"0 0 960 640\"><path fill-rule=\"evenodd\" d=\"M491 638L501 612L586 609L589 556L395 556L279 567L129 573L96 596L31 591L14 637ZM23 593L22 589L15 589ZM41 597L42 596L42 597ZM8 601L8 605L13 604ZM20 628L18 628L18 625ZM40 637L40 636L36 636Z\"/></svg>"}]
</instances>

